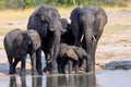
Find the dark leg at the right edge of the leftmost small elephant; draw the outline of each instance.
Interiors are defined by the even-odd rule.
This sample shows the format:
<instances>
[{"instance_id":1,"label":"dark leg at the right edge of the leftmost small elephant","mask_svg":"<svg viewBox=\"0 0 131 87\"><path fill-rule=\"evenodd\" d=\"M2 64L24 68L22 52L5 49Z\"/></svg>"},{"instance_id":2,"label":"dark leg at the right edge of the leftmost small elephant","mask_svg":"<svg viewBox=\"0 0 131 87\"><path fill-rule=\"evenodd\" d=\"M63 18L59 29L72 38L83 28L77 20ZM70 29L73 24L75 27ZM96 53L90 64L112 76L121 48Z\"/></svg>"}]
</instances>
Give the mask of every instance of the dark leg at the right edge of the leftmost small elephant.
<instances>
[{"instance_id":1,"label":"dark leg at the right edge of the leftmost small elephant","mask_svg":"<svg viewBox=\"0 0 131 87\"><path fill-rule=\"evenodd\" d=\"M36 70L38 72L38 74L43 75L43 72L41 72L41 50L38 49L36 51Z\"/></svg>"}]
</instances>

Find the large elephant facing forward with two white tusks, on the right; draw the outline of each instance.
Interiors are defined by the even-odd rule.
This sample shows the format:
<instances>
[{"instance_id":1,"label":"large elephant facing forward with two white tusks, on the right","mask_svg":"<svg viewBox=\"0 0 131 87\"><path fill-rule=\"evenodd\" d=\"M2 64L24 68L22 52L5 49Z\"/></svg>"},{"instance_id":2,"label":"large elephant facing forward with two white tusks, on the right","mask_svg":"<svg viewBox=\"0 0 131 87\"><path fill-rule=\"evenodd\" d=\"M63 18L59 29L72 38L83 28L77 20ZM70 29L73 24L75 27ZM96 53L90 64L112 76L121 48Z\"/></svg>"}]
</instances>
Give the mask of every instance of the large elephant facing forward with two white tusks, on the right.
<instances>
[{"instance_id":1,"label":"large elephant facing forward with two white tusks, on the right","mask_svg":"<svg viewBox=\"0 0 131 87\"><path fill-rule=\"evenodd\" d=\"M86 71L95 71L95 51L107 23L106 12L102 8L75 8L71 12L70 20L75 37L74 45L82 46L91 58L91 66Z\"/></svg>"}]
</instances>

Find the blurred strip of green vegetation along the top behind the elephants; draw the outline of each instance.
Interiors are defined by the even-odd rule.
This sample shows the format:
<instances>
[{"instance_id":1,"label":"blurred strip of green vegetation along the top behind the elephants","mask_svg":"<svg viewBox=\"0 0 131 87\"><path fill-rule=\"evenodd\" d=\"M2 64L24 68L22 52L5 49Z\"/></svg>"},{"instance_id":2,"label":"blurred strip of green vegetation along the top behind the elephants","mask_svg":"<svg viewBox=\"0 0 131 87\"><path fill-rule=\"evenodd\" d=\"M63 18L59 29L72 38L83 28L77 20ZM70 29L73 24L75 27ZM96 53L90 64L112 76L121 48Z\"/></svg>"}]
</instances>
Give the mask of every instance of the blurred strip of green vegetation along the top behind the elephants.
<instances>
[{"instance_id":1,"label":"blurred strip of green vegetation along the top behind the elephants","mask_svg":"<svg viewBox=\"0 0 131 87\"><path fill-rule=\"evenodd\" d=\"M118 5L127 7L130 0L0 0L0 9L25 9L37 5L76 7L76 5Z\"/></svg>"}]
</instances>

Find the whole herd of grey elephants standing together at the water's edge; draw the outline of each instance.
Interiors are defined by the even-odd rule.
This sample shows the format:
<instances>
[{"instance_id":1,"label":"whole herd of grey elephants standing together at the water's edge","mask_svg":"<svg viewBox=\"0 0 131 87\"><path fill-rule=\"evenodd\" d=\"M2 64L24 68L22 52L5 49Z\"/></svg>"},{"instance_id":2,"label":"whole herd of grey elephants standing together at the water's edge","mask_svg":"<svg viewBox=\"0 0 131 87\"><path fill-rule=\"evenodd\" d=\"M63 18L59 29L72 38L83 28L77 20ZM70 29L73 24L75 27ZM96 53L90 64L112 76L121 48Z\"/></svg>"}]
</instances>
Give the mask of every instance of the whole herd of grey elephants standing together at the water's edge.
<instances>
[{"instance_id":1,"label":"whole herd of grey elephants standing together at the water's edge","mask_svg":"<svg viewBox=\"0 0 131 87\"><path fill-rule=\"evenodd\" d=\"M4 49L9 61L9 74L15 73L21 61L21 73L25 75L26 54L31 55L32 74L43 72L56 74L95 71L97 42L107 23L102 8L75 8L70 15L71 22L61 18L58 10L39 7L29 16L27 30L19 28L4 37ZM46 66L41 69L41 51Z\"/></svg>"}]
</instances>

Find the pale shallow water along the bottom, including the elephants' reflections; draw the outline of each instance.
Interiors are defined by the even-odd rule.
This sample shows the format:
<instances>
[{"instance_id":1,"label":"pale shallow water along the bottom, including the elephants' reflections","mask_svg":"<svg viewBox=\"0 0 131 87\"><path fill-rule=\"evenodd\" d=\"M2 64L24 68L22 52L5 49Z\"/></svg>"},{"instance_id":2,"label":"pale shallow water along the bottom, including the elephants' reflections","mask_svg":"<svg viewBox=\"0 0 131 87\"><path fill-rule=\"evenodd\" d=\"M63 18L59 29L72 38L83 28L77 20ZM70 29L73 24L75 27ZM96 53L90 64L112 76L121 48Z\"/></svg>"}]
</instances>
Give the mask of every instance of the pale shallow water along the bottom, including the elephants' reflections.
<instances>
[{"instance_id":1,"label":"pale shallow water along the bottom, including the elephants' reflections","mask_svg":"<svg viewBox=\"0 0 131 87\"><path fill-rule=\"evenodd\" d=\"M131 71L100 71L95 74L4 76L0 87L131 87Z\"/></svg>"}]
</instances>

